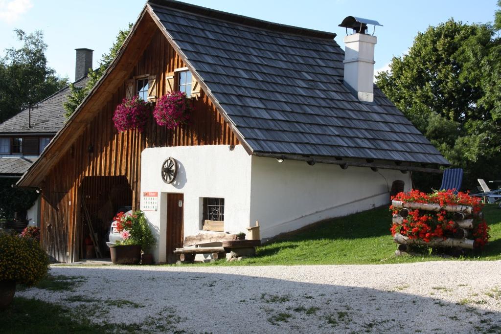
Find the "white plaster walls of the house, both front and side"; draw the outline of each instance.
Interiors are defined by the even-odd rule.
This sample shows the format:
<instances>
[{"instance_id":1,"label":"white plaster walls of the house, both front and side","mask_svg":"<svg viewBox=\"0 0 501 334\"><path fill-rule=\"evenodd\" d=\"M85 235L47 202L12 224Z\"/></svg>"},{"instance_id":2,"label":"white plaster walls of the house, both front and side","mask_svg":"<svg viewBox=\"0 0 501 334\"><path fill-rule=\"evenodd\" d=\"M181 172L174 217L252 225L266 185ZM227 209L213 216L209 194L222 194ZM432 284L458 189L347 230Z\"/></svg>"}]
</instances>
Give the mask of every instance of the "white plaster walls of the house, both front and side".
<instances>
[{"instance_id":1,"label":"white plaster walls of the house, both front and side","mask_svg":"<svg viewBox=\"0 0 501 334\"><path fill-rule=\"evenodd\" d=\"M173 157L178 175L163 182L160 167ZM389 203L394 180L411 188L400 171L315 164L249 156L241 145L148 148L141 157L141 193L158 192L156 211L145 215L156 231L156 260L166 259L167 194L183 193L184 235L201 230L203 197L224 198L224 230L246 232L260 221L261 238L292 231L319 220ZM143 201L143 199L141 199ZM143 203L141 202L141 207Z\"/></svg>"}]
</instances>

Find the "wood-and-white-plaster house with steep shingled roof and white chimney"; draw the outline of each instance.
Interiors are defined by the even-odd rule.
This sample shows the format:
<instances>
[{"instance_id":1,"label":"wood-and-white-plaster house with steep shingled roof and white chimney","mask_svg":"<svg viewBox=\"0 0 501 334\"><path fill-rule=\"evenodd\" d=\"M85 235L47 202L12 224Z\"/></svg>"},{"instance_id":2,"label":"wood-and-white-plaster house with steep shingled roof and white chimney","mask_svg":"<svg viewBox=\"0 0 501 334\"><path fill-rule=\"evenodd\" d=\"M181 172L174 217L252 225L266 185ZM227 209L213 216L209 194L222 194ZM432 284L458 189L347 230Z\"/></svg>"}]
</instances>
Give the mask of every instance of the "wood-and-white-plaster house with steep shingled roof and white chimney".
<instances>
[{"instance_id":1,"label":"wood-and-white-plaster house with steep shingled roof and white chimney","mask_svg":"<svg viewBox=\"0 0 501 334\"><path fill-rule=\"evenodd\" d=\"M63 262L84 256L84 202L101 217L98 231L120 206L143 209L164 262L185 235L245 232L259 220L269 238L387 204L394 181L408 190L410 172L447 165L373 85L375 37L347 36L346 60L335 37L148 2L103 77L18 182L43 194L45 249ZM169 130L150 117L142 133L116 131L124 97L144 93L154 103L172 90L192 96L188 127ZM178 167L172 183L161 174L169 157Z\"/></svg>"}]
</instances>

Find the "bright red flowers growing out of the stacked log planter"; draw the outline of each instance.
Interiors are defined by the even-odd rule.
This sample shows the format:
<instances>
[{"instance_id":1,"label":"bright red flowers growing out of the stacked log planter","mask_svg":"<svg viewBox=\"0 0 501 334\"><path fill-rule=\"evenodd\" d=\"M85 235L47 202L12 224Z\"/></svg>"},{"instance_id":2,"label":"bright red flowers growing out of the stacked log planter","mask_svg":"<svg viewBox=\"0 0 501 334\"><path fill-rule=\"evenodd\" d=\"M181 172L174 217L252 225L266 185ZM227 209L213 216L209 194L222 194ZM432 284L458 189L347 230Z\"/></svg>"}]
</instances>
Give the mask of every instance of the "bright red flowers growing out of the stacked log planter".
<instances>
[{"instance_id":1,"label":"bright red flowers growing out of the stacked log planter","mask_svg":"<svg viewBox=\"0 0 501 334\"><path fill-rule=\"evenodd\" d=\"M418 190L411 190L408 193L401 192L394 196L392 200L406 203L432 203L439 204L440 207L448 205L465 205L473 208L473 237L475 244L483 247L489 238L489 227L478 213L482 209L480 198L471 197L467 193L458 192L454 194L452 190L435 191L431 194L425 194ZM390 206L393 214L399 211ZM391 234L400 233L409 237L409 239L422 239L429 242L431 238L446 238L456 232L456 223L452 220L451 212L440 210L438 212L409 210L406 218L402 219L402 224L393 223L390 228Z\"/></svg>"}]
</instances>

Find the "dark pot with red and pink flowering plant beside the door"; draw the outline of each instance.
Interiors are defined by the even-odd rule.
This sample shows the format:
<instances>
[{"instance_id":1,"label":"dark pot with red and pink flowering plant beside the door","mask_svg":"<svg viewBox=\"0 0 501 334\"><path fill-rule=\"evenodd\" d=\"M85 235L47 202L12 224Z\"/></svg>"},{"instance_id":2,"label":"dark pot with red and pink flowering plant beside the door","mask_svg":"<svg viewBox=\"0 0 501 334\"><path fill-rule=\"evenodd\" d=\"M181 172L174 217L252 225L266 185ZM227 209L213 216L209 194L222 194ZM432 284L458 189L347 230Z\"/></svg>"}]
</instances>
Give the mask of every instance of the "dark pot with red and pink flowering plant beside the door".
<instances>
[{"instance_id":1,"label":"dark pot with red and pink flowering plant beside the door","mask_svg":"<svg viewBox=\"0 0 501 334\"><path fill-rule=\"evenodd\" d=\"M148 252L155 238L148 226L142 211L125 215L119 212L114 219L122 240L110 245L113 264L138 264L141 261L141 250Z\"/></svg>"}]
</instances>

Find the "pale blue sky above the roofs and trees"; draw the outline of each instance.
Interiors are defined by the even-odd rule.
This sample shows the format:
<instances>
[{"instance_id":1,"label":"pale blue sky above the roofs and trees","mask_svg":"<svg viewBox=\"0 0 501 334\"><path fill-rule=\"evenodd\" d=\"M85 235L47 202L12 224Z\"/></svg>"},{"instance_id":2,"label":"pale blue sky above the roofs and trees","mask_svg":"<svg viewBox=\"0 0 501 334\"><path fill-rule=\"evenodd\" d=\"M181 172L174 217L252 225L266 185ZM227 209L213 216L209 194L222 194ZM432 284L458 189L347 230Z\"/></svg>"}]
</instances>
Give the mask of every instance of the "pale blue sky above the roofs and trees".
<instances>
[{"instance_id":1,"label":"pale blue sky above the roofs and trees","mask_svg":"<svg viewBox=\"0 0 501 334\"><path fill-rule=\"evenodd\" d=\"M375 69L387 68L393 56L412 45L417 32L454 18L485 23L493 20L496 0L187 0L190 4L245 15L286 25L338 34L344 48L346 35L338 24L346 16L379 21L375 36ZM94 65L108 51L119 29L135 22L145 1L141 0L0 0L0 55L19 46L13 30L42 30L49 45L49 65L70 80L75 76L75 48L94 50Z\"/></svg>"}]
</instances>

